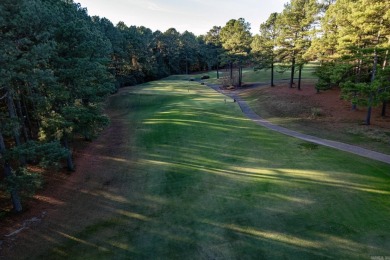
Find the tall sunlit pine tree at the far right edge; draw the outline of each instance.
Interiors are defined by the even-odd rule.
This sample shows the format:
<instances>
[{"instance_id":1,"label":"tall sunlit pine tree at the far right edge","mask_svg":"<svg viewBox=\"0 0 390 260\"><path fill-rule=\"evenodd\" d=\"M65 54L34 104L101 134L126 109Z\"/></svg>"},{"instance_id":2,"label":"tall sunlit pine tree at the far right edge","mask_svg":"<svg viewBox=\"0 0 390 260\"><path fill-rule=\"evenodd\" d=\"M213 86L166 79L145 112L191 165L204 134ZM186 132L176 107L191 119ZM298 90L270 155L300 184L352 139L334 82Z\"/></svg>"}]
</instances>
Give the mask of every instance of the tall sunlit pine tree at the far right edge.
<instances>
[{"instance_id":1,"label":"tall sunlit pine tree at the far right edge","mask_svg":"<svg viewBox=\"0 0 390 260\"><path fill-rule=\"evenodd\" d=\"M369 125L372 106L388 92L377 73L387 67L390 3L339 0L333 7L330 10L335 13L338 25L338 56L355 64L354 79L342 84L343 91L354 103L367 106L365 123Z\"/></svg>"}]
</instances>

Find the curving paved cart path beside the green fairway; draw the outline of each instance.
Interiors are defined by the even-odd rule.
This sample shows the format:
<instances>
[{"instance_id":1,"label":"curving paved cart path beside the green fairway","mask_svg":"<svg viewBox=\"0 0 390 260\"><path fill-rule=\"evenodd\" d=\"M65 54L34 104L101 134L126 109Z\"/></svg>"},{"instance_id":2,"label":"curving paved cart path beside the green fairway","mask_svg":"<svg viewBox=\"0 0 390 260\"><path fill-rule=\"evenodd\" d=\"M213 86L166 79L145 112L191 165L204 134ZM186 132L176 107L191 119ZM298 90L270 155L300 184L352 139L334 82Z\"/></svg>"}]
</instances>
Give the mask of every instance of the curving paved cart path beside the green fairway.
<instances>
[{"instance_id":1,"label":"curving paved cart path beside the green fairway","mask_svg":"<svg viewBox=\"0 0 390 260\"><path fill-rule=\"evenodd\" d=\"M265 120L264 118L260 117L258 114L256 114L249 107L249 105L244 100L242 100L235 92L228 93L227 91L223 91L219 88L220 85L208 85L208 86L210 88L214 89L215 91L218 91L218 92L224 94L225 96L228 96L228 97L236 100L236 102L240 106L242 112L249 119L256 122L258 125L261 125L263 127L269 128L273 131L276 131L276 132L279 132L279 133L282 133L285 135L289 135L289 136L292 136L295 138L299 138L299 139L302 139L302 140L305 140L305 141L308 141L311 143L328 146L328 147L335 148L335 149L338 149L341 151L357 154L357 155L360 155L360 156L363 156L366 158L370 158L373 160L377 160L377 161L381 161L381 162L390 164L390 155L379 153L379 152L374 152L374 151L371 151L371 150L368 150L368 149L365 149L365 148L362 148L359 146L355 146L355 145L345 144L345 143L336 142L336 141L332 141L332 140L322 139L322 138L307 135L307 134L302 134L302 133L299 133L297 131L293 131L293 130L290 130L290 129L287 129L287 128L284 128L284 127L281 127L278 125L274 125L274 124L270 123L269 121Z\"/></svg>"}]
</instances>

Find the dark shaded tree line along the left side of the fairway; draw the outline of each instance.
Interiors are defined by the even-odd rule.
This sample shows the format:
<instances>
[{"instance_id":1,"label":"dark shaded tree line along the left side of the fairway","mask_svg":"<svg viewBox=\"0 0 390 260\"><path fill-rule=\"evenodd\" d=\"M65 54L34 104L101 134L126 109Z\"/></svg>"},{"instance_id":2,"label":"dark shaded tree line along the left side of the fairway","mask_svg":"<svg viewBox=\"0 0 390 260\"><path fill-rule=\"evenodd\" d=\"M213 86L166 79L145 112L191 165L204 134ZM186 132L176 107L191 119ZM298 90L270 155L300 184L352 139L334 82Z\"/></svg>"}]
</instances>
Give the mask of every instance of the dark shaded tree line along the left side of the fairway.
<instances>
[{"instance_id":1,"label":"dark shaded tree line along the left side of the fairway","mask_svg":"<svg viewBox=\"0 0 390 260\"><path fill-rule=\"evenodd\" d=\"M14 211L41 169L74 170L73 142L109 124L103 104L118 88L218 68L220 31L113 25L73 0L1 1L0 188Z\"/></svg>"}]
</instances>

